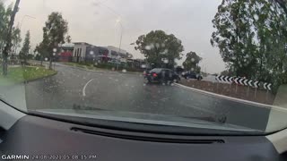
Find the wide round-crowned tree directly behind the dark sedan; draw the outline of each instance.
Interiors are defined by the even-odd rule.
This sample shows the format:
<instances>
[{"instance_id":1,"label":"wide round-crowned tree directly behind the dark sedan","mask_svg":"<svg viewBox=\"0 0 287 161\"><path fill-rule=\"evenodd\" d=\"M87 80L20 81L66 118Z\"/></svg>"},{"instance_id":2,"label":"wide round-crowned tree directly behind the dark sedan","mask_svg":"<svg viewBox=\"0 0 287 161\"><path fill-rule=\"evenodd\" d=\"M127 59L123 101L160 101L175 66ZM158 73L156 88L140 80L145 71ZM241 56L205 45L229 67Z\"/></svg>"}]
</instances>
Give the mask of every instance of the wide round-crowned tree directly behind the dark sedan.
<instances>
[{"instance_id":1,"label":"wide round-crowned tree directly behind the dark sedan","mask_svg":"<svg viewBox=\"0 0 287 161\"><path fill-rule=\"evenodd\" d=\"M135 49L146 57L149 64L153 64L152 67L174 68L175 59L181 59L184 51L181 40L162 30L152 30L140 36L135 44Z\"/></svg>"}]
</instances>

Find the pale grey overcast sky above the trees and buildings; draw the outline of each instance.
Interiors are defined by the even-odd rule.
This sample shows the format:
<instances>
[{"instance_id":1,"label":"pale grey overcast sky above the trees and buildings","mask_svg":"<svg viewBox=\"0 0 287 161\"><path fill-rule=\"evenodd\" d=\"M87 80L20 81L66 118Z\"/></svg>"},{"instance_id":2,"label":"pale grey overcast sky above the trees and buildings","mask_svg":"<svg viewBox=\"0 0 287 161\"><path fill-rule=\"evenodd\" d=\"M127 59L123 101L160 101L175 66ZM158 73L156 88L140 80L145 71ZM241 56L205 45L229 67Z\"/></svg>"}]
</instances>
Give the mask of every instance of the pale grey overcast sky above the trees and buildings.
<instances>
[{"instance_id":1,"label":"pale grey overcast sky above the trees and buildings","mask_svg":"<svg viewBox=\"0 0 287 161\"><path fill-rule=\"evenodd\" d=\"M14 3L6 0L5 4ZM138 36L151 30L164 30L182 40L184 54L195 51L204 60L207 72L222 72L224 64L217 47L210 44L212 20L221 0L22 0L15 24L21 24L22 38L30 30L31 46L42 39L42 27L51 12L60 12L69 23L73 42L95 46L119 45L123 26L122 48L135 57L143 55L130 46ZM181 64L183 60L178 62Z\"/></svg>"}]
</instances>

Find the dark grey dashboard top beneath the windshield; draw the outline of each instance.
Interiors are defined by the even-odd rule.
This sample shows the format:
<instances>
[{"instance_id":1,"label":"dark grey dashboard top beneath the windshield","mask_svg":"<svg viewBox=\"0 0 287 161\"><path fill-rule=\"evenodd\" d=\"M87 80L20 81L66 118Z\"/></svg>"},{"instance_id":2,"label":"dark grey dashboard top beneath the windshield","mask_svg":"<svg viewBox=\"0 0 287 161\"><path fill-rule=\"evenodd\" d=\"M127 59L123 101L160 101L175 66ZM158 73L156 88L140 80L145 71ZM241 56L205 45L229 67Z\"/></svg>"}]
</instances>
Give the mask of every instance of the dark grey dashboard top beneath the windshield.
<instances>
[{"instance_id":1,"label":"dark grey dashboard top beneath the windshield","mask_svg":"<svg viewBox=\"0 0 287 161\"><path fill-rule=\"evenodd\" d=\"M117 137L118 131L31 115L0 133L3 134L0 134L1 157L24 155L29 156L29 160L287 160L278 155L264 136L181 136L173 141L152 140L154 136L143 137L143 134L135 138Z\"/></svg>"}]
</instances>

